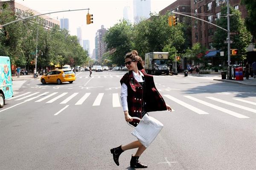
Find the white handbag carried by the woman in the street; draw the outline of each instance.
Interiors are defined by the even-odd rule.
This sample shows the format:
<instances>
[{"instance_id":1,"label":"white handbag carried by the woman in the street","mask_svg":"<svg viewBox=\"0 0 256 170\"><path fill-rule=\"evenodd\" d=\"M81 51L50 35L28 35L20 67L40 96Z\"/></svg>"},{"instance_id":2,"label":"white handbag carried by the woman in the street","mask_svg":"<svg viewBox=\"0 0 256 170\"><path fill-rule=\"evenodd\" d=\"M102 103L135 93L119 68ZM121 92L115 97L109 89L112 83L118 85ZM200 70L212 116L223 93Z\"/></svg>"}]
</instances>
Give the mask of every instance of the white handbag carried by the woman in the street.
<instances>
[{"instance_id":1,"label":"white handbag carried by the woman in the street","mask_svg":"<svg viewBox=\"0 0 256 170\"><path fill-rule=\"evenodd\" d=\"M145 114L142 119L137 117L132 118L140 120L140 123L135 127L131 134L137 137L143 146L148 147L162 130L163 124L148 114ZM129 125L132 126L131 124Z\"/></svg>"}]
</instances>

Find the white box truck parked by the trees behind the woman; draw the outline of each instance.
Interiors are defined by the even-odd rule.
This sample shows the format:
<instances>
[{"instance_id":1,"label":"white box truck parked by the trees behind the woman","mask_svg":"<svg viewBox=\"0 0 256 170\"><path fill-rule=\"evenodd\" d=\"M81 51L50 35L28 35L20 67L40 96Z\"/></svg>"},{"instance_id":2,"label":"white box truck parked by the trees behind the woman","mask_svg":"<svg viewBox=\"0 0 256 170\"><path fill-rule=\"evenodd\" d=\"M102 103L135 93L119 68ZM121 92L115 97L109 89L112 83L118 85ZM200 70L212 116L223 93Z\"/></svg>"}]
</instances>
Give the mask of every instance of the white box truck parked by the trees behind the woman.
<instances>
[{"instance_id":1,"label":"white box truck parked by the trees behind the woman","mask_svg":"<svg viewBox=\"0 0 256 170\"><path fill-rule=\"evenodd\" d=\"M145 54L145 71L148 74L169 75L168 61L168 52L148 52Z\"/></svg>"}]
</instances>

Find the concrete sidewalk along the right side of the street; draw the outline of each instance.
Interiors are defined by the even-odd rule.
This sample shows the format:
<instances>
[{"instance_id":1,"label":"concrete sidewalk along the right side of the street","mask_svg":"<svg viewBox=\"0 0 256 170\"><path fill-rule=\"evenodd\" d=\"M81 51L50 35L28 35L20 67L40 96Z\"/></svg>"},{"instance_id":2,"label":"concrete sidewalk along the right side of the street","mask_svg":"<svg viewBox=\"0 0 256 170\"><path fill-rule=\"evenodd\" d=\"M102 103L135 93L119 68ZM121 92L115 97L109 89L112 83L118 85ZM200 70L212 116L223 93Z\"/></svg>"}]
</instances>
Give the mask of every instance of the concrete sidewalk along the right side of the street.
<instances>
[{"instance_id":1,"label":"concrete sidewalk along the right side of the street","mask_svg":"<svg viewBox=\"0 0 256 170\"><path fill-rule=\"evenodd\" d=\"M173 75L173 76L186 78L184 76L184 73L179 73L178 75ZM244 84L244 85L248 85L248 86L256 86L256 78L249 77L249 79L247 80L244 77L243 81L227 80L227 79L222 80L220 72L216 72L216 73L213 73L213 74L205 74L205 75L191 75L191 74L188 74L188 77L209 78L209 79L212 79L212 80L215 80L215 81L223 81L223 82L229 82L229 83L235 83L235 84Z\"/></svg>"}]
</instances>

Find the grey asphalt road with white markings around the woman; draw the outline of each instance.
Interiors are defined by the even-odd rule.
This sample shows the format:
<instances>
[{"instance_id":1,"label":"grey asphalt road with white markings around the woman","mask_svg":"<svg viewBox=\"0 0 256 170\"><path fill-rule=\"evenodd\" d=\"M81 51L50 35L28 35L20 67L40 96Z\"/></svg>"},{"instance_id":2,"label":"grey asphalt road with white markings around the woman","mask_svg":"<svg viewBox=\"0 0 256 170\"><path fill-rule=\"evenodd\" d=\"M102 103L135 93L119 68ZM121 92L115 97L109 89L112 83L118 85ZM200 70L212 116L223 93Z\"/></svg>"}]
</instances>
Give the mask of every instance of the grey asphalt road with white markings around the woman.
<instances>
[{"instance_id":1,"label":"grey asphalt road with white markings around the woman","mask_svg":"<svg viewBox=\"0 0 256 170\"><path fill-rule=\"evenodd\" d=\"M113 162L110 149L136 138L125 123L119 80L125 72L76 72L73 84L14 81L0 109L1 170L131 169L136 150ZM256 89L211 78L154 76L173 112L140 157L149 170L255 170Z\"/></svg>"}]
</instances>

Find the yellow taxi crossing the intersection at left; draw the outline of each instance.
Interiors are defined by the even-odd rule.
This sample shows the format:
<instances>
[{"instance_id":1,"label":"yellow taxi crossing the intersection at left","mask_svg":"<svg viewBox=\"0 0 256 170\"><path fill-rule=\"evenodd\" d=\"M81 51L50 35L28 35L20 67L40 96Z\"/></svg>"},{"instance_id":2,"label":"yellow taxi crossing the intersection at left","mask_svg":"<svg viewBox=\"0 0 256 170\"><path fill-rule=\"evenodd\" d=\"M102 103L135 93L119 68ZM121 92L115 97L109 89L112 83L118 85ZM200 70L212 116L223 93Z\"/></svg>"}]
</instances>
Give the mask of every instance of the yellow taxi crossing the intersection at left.
<instances>
[{"instance_id":1,"label":"yellow taxi crossing the intersection at left","mask_svg":"<svg viewBox=\"0 0 256 170\"><path fill-rule=\"evenodd\" d=\"M73 83L76 80L76 75L71 70L66 69L55 69L50 72L47 72L41 77L41 83L57 83L61 84L63 82Z\"/></svg>"}]
</instances>

